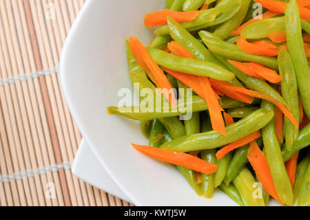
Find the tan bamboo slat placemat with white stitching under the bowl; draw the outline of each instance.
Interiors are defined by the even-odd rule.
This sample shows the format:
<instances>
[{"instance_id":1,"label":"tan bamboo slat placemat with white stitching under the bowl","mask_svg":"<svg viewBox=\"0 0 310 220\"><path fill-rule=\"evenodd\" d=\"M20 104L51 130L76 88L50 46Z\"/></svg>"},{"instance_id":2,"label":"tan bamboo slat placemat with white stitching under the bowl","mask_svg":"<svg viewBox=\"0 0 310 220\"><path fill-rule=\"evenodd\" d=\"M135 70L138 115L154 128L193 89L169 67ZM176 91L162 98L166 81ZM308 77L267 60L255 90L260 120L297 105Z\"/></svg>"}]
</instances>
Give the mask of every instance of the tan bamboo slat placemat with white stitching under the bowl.
<instances>
[{"instance_id":1,"label":"tan bamboo slat placemat with white stitching under the bowl","mask_svg":"<svg viewBox=\"0 0 310 220\"><path fill-rule=\"evenodd\" d=\"M0 206L131 206L70 170L59 57L85 0L0 0Z\"/></svg>"}]
</instances>

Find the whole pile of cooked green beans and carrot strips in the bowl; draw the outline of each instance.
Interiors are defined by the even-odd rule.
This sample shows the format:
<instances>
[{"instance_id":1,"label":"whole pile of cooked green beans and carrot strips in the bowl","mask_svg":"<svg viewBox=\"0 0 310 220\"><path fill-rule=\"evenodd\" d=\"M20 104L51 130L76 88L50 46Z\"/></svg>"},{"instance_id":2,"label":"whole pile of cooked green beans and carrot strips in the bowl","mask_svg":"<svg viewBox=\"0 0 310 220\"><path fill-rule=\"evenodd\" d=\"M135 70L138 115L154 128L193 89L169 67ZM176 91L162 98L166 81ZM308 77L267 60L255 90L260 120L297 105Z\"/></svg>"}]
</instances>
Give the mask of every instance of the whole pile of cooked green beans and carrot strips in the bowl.
<instances>
[{"instance_id":1,"label":"whole pile of cooked green beans and carrot strips in the bowl","mask_svg":"<svg viewBox=\"0 0 310 220\"><path fill-rule=\"evenodd\" d=\"M107 108L141 121L149 146L132 147L198 196L310 206L310 1L165 3L145 15L147 47L126 41L139 105Z\"/></svg>"}]
</instances>

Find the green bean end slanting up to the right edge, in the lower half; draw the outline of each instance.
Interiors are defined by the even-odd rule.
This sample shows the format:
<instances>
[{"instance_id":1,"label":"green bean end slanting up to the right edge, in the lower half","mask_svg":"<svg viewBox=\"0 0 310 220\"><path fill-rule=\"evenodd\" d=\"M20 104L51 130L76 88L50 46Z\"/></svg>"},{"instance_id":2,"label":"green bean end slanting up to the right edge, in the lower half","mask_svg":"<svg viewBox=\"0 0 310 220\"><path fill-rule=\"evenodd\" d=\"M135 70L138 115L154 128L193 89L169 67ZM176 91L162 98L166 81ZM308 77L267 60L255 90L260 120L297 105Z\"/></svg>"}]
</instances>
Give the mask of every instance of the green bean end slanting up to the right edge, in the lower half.
<instances>
[{"instance_id":1,"label":"green bean end slanting up to the right edge, in the lower half","mask_svg":"<svg viewBox=\"0 0 310 220\"><path fill-rule=\"evenodd\" d=\"M306 127L302 128L299 132L299 137L297 141L294 143L293 148L291 151L284 150L282 152L284 161L288 161L291 157L293 157L296 152L299 150L302 150L302 148L305 148L310 145L310 124Z\"/></svg>"}]
</instances>

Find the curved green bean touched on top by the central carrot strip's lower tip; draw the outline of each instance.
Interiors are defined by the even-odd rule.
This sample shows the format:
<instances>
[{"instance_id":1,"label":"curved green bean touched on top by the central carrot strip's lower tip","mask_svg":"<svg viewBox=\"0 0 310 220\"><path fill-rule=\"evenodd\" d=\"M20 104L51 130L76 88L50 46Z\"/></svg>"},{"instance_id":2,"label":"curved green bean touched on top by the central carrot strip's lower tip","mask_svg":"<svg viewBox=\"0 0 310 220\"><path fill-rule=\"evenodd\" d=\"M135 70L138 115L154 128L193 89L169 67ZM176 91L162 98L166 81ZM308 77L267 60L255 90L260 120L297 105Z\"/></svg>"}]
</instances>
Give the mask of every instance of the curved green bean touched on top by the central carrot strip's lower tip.
<instances>
[{"instance_id":1,"label":"curved green bean touched on top by the central carrot strip's lower tip","mask_svg":"<svg viewBox=\"0 0 310 220\"><path fill-rule=\"evenodd\" d=\"M260 109L249 114L244 119L227 126L225 128L226 137L212 130L210 132L192 134L187 137L174 139L174 141L164 143L161 148L178 152L190 152L222 147L260 130L269 123L273 115L274 112L271 110Z\"/></svg>"}]
</instances>

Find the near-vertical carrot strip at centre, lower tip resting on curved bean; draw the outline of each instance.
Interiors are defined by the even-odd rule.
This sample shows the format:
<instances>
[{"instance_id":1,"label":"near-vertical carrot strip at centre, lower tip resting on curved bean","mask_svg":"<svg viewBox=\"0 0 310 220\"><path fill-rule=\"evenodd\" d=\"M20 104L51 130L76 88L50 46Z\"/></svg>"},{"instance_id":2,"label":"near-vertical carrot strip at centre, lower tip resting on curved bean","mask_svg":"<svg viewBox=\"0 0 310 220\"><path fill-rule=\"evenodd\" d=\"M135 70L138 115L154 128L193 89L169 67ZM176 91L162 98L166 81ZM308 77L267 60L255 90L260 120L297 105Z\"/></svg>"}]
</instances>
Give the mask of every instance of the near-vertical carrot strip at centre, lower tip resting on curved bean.
<instances>
[{"instance_id":1,"label":"near-vertical carrot strip at centre, lower tip resting on curved bean","mask_svg":"<svg viewBox=\"0 0 310 220\"><path fill-rule=\"evenodd\" d=\"M226 136L225 123L222 116L223 108L220 107L218 99L215 96L214 90L211 88L211 84L207 77L199 77L200 88L203 89L205 101L209 107L210 119L213 130Z\"/></svg>"}]
</instances>

